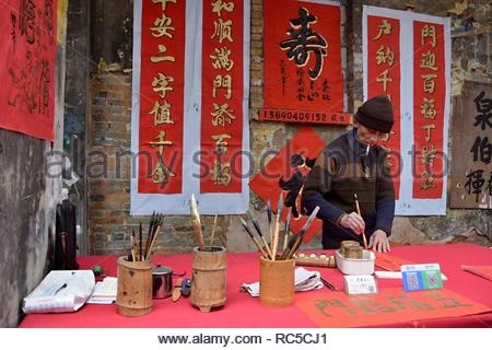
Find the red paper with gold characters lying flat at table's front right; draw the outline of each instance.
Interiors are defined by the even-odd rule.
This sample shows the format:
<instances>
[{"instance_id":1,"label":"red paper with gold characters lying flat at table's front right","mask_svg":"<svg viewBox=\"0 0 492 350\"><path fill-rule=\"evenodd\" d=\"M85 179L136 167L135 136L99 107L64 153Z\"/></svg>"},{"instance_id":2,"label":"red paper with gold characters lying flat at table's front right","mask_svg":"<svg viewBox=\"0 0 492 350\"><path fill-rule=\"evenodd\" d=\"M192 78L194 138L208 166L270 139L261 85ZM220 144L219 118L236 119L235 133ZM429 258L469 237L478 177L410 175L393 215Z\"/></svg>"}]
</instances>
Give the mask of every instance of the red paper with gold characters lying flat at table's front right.
<instances>
[{"instance_id":1,"label":"red paper with gold characters lying flat at table's front right","mask_svg":"<svg viewBox=\"0 0 492 350\"><path fill-rule=\"evenodd\" d=\"M296 295L295 304L318 327L324 328L380 326L492 311L446 289L405 292L391 288L365 295L303 293Z\"/></svg>"}]
</instances>

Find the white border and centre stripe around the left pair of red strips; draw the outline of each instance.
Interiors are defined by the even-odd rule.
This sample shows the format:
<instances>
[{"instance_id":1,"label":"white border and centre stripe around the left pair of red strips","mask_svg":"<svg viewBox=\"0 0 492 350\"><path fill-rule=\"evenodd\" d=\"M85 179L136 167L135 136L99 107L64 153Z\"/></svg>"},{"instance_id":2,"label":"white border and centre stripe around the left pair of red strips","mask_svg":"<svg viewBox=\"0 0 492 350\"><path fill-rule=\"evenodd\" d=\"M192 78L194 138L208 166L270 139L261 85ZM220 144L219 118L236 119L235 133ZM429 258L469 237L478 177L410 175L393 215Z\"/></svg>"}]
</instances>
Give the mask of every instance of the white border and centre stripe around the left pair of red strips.
<instances>
[{"instance_id":1,"label":"white border and centre stripe around the left pair of red strips","mask_svg":"<svg viewBox=\"0 0 492 350\"><path fill-rule=\"evenodd\" d=\"M138 191L138 162L132 158L130 185L130 213L189 214L191 194L197 198L202 214L241 214L249 205L249 175L253 162L249 159L249 1L234 1L244 7L244 65L243 65L243 172L242 191L235 194L200 194L200 122L201 119L201 55L202 55L202 1L186 2L185 86L184 86L184 145L183 190L180 194L141 194ZM207 3L207 2L206 2ZM140 67L141 67L141 16L142 1L133 8L133 77L131 110L131 152L139 152Z\"/></svg>"}]
</instances>

